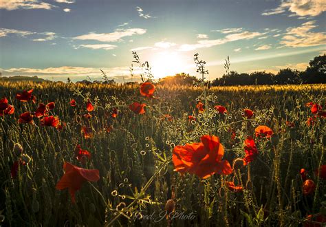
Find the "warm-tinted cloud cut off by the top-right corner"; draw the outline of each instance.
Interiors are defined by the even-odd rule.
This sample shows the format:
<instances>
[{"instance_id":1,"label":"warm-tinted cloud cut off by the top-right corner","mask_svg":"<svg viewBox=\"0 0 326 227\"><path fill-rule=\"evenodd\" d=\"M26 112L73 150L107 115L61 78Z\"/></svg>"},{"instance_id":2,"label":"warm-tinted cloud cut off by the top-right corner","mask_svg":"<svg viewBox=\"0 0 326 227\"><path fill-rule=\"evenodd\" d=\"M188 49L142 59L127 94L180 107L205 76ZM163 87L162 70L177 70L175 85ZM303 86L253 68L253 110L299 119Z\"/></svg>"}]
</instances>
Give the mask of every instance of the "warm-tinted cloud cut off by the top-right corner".
<instances>
[{"instance_id":1,"label":"warm-tinted cloud cut off by the top-right corner","mask_svg":"<svg viewBox=\"0 0 326 227\"><path fill-rule=\"evenodd\" d=\"M272 14L280 14L288 10L292 12L289 17L293 17L294 14L299 17L316 17L322 12L326 11L326 1L325 0L290 0L282 1L281 5L272 10L265 10L262 13L263 16L268 16Z\"/></svg>"}]
</instances>

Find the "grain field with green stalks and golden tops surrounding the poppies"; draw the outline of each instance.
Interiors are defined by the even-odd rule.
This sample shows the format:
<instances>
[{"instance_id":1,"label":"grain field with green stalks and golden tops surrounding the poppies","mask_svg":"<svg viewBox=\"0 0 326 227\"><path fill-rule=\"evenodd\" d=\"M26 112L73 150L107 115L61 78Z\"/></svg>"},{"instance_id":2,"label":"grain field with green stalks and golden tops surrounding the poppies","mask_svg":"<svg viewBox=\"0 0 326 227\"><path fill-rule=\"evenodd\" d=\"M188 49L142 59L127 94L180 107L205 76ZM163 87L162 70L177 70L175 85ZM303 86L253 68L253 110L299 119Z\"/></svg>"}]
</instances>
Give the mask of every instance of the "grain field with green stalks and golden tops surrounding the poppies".
<instances>
[{"instance_id":1,"label":"grain field with green stalks and golden tops surrounding the poppies","mask_svg":"<svg viewBox=\"0 0 326 227\"><path fill-rule=\"evenodd\" d=\"M34 89L36 103L15 98L24 89ZM316 170L326 164L325 89L326 85L158 85L154 98L148 98L140 95L140 85L3 82L0 98L8 98L14 113L0 118L1 217L5 226L307 226L312 224L307 215L315 215L312 220L321 226L326 173ZM74 107L69 104L72 99ZM87 111L87 100L94 110ZM202 113L196 107L199 101L204 104ZM62 129L43 126L45 116L19 123L23 112L34 115L41 102L55 102L47 114L58 116ZM131 111L133 102L146 104L145 113ZM323 107L314 114L307 102ZM217 105L225 107L226 114L215 110ZM243 116L243 109L254 115ZM272 129L272 142L255 136L259 125ZM231 166L246 155L243 142L248 136L254 138L258 154L229 175L201 179L173 171L174 147L200 142L205 134L219 137L223 160ZM15 143L21 144L22 153ZM77 144L90 156L77 159ZM13 174L16 161L25 163ZM97 182L85 182L76 191L76 203L67 189L56 189L64 162L98 169L100 174ZM314 186L303 188L301 169ZM171 208L166 206L171 198L175 211L167 218L164 210Z\"/></svg>"}]
</instances>

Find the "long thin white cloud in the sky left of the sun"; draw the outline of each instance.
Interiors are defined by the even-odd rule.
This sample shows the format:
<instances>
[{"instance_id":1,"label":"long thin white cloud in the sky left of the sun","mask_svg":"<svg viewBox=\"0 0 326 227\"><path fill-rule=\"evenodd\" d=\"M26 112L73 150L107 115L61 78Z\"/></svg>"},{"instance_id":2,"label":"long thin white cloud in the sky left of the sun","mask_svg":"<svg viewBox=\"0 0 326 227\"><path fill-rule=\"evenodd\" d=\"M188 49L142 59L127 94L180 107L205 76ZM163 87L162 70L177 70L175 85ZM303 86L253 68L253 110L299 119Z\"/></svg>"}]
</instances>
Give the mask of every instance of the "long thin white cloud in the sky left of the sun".
<instances>
[{"instance_id":1,"label":"long thin white cloud in the sky left of the sun","mask_svg":"<svg viewBox=\"0 0 326 227\"><path fill-rule=\"evenodd\" d=\"M129 28L129 29L117 29L111 33L94 33L83 34L81 36L76 36L73 39L79 40L96 40L100 42L116 42L120 41L123 37L133 36L134 34L145 34L146 29L142 28Z\"/></svg>"}]
</instances>

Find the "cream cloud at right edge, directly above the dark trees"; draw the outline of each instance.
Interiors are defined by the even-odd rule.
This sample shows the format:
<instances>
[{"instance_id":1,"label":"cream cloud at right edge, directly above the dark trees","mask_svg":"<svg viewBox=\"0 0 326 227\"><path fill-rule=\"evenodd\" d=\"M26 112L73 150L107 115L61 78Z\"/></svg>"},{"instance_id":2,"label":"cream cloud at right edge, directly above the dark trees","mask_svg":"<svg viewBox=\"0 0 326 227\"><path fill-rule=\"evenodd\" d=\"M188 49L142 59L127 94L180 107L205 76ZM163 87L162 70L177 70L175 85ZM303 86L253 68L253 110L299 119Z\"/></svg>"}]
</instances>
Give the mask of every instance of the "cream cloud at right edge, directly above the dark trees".
<instances>
[{"instance_id":1,"label":"cream cloud at right edge, directly above the dark trees","mask_svg":"<svg viewBox=\"0 0 326 227\"><path fill-rule=\"evenodd\" d=\"M316 28L316 21L308 21L296 28L288 28L280 42L285 47L311 47L326 44L324 32L311 32Z\"/></svg>"}]
</instances>

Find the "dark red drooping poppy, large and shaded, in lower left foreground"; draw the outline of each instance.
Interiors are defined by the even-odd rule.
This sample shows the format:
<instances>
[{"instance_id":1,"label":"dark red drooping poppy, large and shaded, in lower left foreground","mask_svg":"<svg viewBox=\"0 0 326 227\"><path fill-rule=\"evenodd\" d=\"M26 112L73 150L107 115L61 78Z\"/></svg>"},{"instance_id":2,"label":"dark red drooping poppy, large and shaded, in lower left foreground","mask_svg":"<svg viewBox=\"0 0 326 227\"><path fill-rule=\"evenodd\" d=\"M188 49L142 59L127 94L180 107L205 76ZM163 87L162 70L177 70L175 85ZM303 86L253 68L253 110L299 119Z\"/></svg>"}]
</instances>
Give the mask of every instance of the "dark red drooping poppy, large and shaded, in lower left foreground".
<instances>
[{"instance_id":1,"label":"dark red drooping poppy, large and shaded, in lower left foreground","mask_svg":"<svg viewBox=\"0 0 326 227\"><path fill-rule=\"evenodd\" d=\"M68 188L72 202L75 202L75 193L83 186L84 182L97 182L100 180L98 169L83 169L69 162L63 164L63 169L65 175L56 184L56 189L63 190Z\"/></svg>"}]
</instances>

